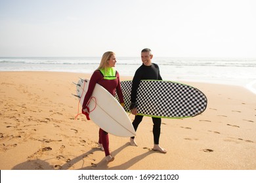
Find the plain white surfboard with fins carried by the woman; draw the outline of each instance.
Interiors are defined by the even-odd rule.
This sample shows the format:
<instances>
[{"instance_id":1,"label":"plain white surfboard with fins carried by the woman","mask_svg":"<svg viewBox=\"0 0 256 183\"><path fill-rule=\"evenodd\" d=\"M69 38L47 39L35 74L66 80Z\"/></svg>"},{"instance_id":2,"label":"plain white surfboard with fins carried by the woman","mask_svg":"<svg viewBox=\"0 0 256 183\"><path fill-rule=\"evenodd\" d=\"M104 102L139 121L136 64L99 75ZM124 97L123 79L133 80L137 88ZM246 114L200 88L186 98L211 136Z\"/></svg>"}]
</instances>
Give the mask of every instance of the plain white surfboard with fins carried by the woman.
<instances>
[{"instance_id":1,"label":"plain white surfboard with fins carried by the woman","mask_svg":"<svg viewBox=\"0 0 256 183\"><path fill-rule=\"evenodd\" d=\"M80 97L81 105L83 105L88 86L88 79L80 79L77 82L77 96ZM91 111L89 117L104 131L119 137L135 136L135 129L123 107L99 84L96 84L93 90L88 107Z\"/></svg>"}]
</instances>

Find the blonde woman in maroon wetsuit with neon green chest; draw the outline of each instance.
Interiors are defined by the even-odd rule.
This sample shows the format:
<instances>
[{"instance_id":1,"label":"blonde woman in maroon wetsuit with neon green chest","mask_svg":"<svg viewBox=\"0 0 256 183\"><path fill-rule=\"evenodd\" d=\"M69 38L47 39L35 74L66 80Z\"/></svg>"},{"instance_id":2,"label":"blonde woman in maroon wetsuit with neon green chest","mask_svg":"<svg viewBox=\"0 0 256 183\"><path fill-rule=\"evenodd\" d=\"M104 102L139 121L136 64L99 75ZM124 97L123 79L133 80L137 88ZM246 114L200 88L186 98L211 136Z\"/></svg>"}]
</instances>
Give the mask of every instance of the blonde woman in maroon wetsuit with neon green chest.
<instances>
[{"instance_id":1,"label":"blonde woman in maroon wetsuit with neon green chest","mask_svg":"<svg viewBox=\"0 0 256 183\"><path fill-rule=\"evenodd\" d=\"M91 98L96 83L100 84L102 87L108 90L108 92L110 92L113 96L115 96L117 92L119 101L121 105L124 106L119 73L114 69L115 65L116 54L114 52L104 53L100 61L100 66L91 76L89 88L83 101L83 113L88 112L88 101ZM106 161L114 161L114 157L110 155L108 133L102 129L99 130L98 146L100 146L102 151L104 150Z\"/></svg>"}]
</instances>

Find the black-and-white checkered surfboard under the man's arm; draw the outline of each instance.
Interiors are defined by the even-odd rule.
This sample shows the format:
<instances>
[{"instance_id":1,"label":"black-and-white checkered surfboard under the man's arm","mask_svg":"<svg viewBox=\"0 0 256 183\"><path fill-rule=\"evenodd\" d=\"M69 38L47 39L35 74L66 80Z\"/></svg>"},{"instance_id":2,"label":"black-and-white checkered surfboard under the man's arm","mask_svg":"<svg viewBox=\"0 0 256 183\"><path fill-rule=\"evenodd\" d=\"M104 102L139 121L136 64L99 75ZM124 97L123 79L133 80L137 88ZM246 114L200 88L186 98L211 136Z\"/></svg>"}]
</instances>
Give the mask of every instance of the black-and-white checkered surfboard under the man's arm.
<instances>
[{"instance_id":1,"label":"black-and-white checkered surfboard under the man's arm","mask_svg":"<svg viewBox=\"0 0 256 183\"><path fill-rule=\"evenodd\" d=\"M122 81L125 110L130 112L132 81ZM116 96L118 99L118 97ZM188 118L201 114L207 97L198 89L171 81L141 80L137 91L138 114L157 118Z\"/></svg>"}]
</instances>

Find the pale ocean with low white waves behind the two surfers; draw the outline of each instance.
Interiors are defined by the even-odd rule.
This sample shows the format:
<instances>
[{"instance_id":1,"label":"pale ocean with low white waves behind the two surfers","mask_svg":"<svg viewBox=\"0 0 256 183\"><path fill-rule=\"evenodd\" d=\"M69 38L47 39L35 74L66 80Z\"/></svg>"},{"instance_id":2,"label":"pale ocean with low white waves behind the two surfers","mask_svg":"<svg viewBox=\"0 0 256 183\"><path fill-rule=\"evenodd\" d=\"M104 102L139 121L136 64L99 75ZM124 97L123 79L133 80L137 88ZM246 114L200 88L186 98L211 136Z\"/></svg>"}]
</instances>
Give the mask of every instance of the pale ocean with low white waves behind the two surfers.
<instances>
[{"instance_id":1,"label":"pale ocean with low white waves behind the two surfers","mask_svg":"<svg viewBox=\"0 0 256 183\"><path fill-rule=\"evenodd\" d=\"M210 82L244 86L256 94L256 58L153 58L163 80ZM0 58L0 71L56 71L93 73L97 57ZM122 76L133 76L142 64L138 57L117 57L116 69ZM77 76L83 77L79 74Z\"/></svg>"}]
</instances>

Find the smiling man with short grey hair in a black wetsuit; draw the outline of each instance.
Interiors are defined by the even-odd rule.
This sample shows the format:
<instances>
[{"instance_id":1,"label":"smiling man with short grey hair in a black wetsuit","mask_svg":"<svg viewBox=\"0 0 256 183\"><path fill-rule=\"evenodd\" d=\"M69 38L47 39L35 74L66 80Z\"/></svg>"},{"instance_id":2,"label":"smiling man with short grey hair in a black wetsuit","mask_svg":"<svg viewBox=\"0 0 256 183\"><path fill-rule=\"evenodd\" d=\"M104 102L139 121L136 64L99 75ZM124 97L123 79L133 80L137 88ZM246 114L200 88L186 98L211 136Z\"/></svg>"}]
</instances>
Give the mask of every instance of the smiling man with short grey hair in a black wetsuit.
<instances>
[{"instance_id":1,"label":"smiling man with short grey hair in a black wetsuit","mask_svg":"<svg viewBox=\"0 0 256 183\"><path fill-rule=\"evenodd\" d=\"M139 88L140 80L162 80L160 75L160 69L156 63L152 63L152 52L149 48L144 48L141 51L141 60L142 65L137 69L135 72L135 76L133 77L133 85L131 89L131 112L135 115L135 120L133 121L133 127L135 128L135 131L137 131L137 128L142 121L143 116L137 115L137 103L136 103L136 97L137 97L137 89ZM159 145L159 139L160 139L160 132L161 132L161 118L154 118L152 117L153 121L153 135L154 135L154 147L153 150L159 151L161 153L166 153L167 150L164 148L161 148ZM132 146L137 146L137 143L135 142L135 137L131 137L130 139Z\"/></svg>"}]
</instances>

